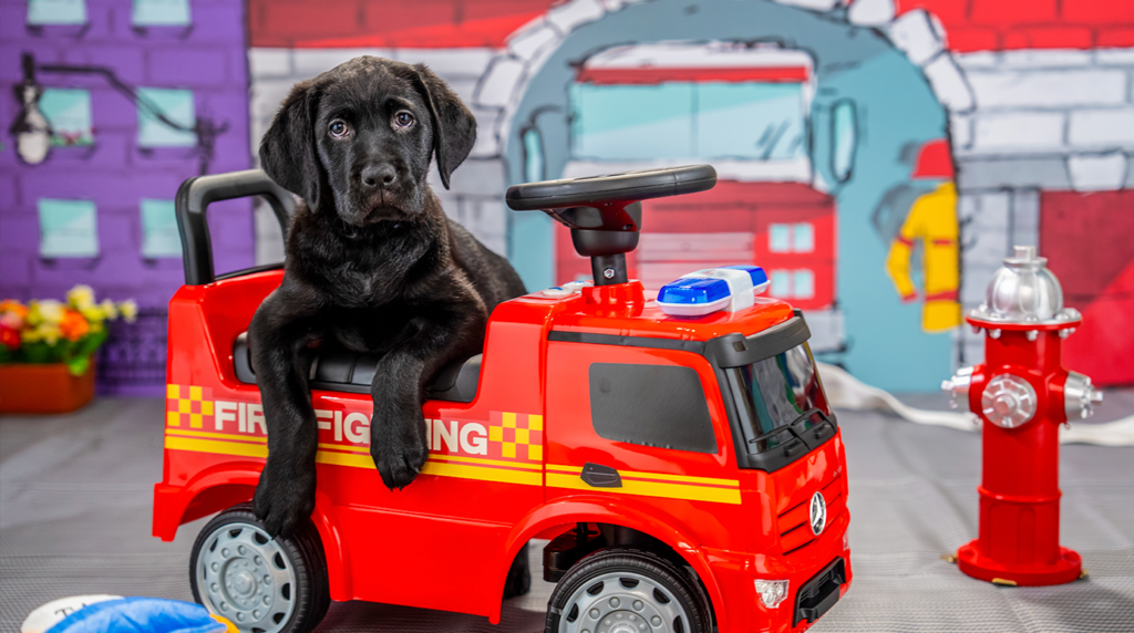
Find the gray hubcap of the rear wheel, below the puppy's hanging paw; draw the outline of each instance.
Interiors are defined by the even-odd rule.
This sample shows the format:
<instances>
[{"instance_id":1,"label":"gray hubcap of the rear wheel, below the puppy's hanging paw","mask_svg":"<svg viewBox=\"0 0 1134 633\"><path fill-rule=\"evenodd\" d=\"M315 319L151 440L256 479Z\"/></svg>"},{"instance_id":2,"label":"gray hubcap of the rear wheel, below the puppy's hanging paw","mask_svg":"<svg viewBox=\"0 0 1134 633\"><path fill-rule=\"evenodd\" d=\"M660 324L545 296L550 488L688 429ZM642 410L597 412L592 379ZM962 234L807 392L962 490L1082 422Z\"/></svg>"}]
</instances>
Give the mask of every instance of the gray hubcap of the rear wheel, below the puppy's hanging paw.
<instances>
[{"instance_id":1,"label":"gray hubcap of the rear wheel, below the puppy's hanging paw","mask_svg":"<svg viewBox=\"0 0 1134 633\"><path fill-rule=\"evenodd\" d=\"M295 610L295 570L255 525L229 523L209 534L195 566L205 607L240 631L277 633Z\"/></svg>"}]
</instances>

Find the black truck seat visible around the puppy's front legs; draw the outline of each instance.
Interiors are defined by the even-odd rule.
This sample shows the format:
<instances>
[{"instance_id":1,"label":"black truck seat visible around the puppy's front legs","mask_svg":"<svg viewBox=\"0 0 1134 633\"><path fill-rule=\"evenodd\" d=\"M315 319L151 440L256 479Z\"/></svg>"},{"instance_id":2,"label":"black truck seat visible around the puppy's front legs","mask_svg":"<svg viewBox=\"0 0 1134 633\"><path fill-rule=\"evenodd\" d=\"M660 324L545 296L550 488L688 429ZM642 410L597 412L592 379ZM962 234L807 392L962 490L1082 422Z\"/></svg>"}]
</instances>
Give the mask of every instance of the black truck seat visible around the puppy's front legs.
<instances>
[{"instance_id":1,"label":"black truck seat visible around the puppy's front legs","mask_svg":"<svg viewBox=\"0 0 1134 633\"><path fill-rule=\"evenodd\" d=\"M370 393L370 384L378 370L378 354L359 354L346 350L321 350L311 366L312 388ZM236 337L232 363L242 383L256 384L248 349L248 333ZM426 387L430 400L472 402L481 377L481 354L454 362L441 370Z\"/></svg>"}]
</instances>

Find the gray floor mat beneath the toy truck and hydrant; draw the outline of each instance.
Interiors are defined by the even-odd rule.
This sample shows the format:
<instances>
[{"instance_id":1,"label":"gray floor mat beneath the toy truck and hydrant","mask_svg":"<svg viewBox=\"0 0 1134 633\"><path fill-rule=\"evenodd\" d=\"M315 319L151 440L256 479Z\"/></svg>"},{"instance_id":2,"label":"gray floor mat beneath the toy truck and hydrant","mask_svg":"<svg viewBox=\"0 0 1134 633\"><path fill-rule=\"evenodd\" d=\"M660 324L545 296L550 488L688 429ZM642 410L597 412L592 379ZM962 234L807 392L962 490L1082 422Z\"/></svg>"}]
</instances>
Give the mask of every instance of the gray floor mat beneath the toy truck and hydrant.
<instances>
[{"instance_id":1,"label":"gray floor mat beneath the toy truck and hydrant","mask_svg":"<svg viewBox=\"0 0 1134 633\"><path fill-rule=\"evenodd\" d=\"M1129 392L1108 394L1127 408ZM939 403L921 400L917 404ZM1105 405L1105 408L1108 408ZM160 400L101 399L62 417L0 418L0 633L48 600L82 593L191 599L188 550L150 536L161 477ZM1105 418L1105 419L1107 419ZM1068 585L1000 588L940 558L976 532L979 434L875 413L839 414L850 476L855 581L813 631L1134 632L1134 448L1064 446L1063 537L1091 574ZM539 568L539 547L532 548ZM551 585L506 602L502 622L336 604L323 632L535 632Z\"/></svg>"}]
</instances>

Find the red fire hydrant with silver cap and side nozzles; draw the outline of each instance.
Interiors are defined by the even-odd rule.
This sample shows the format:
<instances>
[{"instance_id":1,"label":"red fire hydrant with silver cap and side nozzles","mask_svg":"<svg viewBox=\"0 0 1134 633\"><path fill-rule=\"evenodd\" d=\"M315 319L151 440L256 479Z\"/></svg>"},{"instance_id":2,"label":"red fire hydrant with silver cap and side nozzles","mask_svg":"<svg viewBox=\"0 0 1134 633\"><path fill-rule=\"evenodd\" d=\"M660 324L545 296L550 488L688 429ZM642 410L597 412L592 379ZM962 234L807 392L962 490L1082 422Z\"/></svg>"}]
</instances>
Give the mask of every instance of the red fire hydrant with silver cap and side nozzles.
<instances>
[{"instance_id":1,"label":"red fire hydrant with silver cap and side nozzles","mask_svg":"<svg viewBox=\"0 0 1134 633\"><path fill-rule=\"evenodd\" d=\"M941 385L983 421L980 536L957 550L964 573L998 584L1041 585L1082 575L1077 553L1059 546L1059 425L1102 402L1091 379L1064 369L1063 339L1083 318L1064 308L1059 281L1034 246L989 283L965 317L983 331L984 362Z\"/></svg>"}]
</instances>

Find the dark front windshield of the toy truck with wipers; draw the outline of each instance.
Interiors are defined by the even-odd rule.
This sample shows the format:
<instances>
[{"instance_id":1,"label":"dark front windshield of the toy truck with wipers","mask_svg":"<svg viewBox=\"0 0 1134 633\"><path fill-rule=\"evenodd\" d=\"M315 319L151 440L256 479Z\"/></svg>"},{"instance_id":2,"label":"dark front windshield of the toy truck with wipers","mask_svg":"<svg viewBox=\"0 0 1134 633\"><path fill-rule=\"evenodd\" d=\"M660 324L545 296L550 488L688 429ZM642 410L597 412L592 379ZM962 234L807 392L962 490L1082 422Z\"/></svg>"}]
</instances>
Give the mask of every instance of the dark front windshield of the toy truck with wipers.
<instances>
[{"instance_id":1,"label":"dark front windshield of the toy truck with wipers","mask_svg":"<svg viewBox=\"0 0 1134 633\"><path fill-rule=\"evenodd\" d=\"M777 429L802 420L796 429L803 431L830 416L807 343L733 371L739 392L741 426L751 453L762 453L792 438L789 431Z\"/></svg>"}]
</instances>

